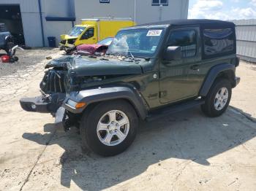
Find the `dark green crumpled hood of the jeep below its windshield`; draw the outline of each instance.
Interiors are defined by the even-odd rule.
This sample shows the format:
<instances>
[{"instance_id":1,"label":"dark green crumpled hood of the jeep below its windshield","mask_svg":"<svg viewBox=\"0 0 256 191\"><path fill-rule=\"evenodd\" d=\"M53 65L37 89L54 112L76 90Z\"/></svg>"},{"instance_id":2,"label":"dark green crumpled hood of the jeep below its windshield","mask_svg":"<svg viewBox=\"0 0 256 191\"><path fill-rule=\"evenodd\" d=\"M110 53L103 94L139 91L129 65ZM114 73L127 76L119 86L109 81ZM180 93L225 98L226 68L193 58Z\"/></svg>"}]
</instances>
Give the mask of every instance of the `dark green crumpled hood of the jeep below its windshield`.
<instances>
[{"instance_id":1,"label":"dark green crumpled hood of the jeep below its windshield","mask_svg":"<svg viewBox=\"0 0 256 191\"><path fill-rule=\"evenodd\" d=\"M77 76L96 76L96 75L119 75L119 74L141 74L142 69L138 63L127 61L101 61L96 58L74 59L72 68L69 72Z\"/></svg>"}]
</instances>

